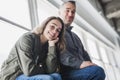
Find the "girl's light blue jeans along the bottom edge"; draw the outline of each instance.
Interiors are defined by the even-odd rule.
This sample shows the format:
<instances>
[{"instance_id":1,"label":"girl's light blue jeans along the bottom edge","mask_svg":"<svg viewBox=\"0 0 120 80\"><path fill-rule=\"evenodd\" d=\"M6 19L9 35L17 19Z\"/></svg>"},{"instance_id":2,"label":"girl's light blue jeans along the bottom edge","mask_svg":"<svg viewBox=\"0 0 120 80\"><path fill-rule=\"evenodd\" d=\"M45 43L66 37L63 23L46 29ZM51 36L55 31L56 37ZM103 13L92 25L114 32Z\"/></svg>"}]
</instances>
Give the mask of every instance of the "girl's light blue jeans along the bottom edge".
<instances>
[{"instance_id":1,"label":"girl's light blue jeans along the bottom edge","mask_svg":"<svg viewBox=\"0 0 120 80\"><path fill-rule=\"evenodd\" d=\"M24 74L18 76L16 80L62 80L59 73L53 74L40 74L35 76L27 77Z\"/></svg>"}]
</instances>

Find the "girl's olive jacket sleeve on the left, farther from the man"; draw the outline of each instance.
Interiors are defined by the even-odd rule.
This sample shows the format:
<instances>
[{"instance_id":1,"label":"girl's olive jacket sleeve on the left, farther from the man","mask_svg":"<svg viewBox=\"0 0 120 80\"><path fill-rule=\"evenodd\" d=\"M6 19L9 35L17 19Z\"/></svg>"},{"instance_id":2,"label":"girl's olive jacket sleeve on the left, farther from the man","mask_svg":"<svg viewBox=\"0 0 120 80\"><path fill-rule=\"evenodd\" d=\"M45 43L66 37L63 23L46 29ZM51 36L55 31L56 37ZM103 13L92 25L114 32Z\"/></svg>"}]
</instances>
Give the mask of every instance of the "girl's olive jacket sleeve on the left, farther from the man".
<instances>
[{"instance_id":1,"label":"girl's olive jacket sleeve on the left, farther from the man","mask_svg":"<svg viewBox=\"0 0 120 80\"><path fill-rule=\"evenodd\" d=\"M24 35L16 44L19 65L26 76L44 73L44 69L35 63L32 48L33 39L30 35Z\"/></svg>"}]
</instances>

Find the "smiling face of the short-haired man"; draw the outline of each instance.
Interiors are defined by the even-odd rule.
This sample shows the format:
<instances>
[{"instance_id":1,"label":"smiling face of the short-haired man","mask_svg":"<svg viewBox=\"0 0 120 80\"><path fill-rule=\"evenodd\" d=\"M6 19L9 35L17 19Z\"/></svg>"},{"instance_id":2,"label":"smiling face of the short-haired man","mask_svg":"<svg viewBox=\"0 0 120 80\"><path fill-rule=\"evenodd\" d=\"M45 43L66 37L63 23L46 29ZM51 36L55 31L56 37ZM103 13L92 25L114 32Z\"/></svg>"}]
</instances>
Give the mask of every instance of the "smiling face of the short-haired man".
<instances>
[{"instance_id":1,"label":"smiling face of the short-haired man","mask_svg":"<svg viewBox=\"0 0 120 80\"><path fill-rule=\"evenodd\" d=\"M75 17L76 6L68 2L60 8L59 15L65 25L70 25Z\"/></svg>"}]
</instances>

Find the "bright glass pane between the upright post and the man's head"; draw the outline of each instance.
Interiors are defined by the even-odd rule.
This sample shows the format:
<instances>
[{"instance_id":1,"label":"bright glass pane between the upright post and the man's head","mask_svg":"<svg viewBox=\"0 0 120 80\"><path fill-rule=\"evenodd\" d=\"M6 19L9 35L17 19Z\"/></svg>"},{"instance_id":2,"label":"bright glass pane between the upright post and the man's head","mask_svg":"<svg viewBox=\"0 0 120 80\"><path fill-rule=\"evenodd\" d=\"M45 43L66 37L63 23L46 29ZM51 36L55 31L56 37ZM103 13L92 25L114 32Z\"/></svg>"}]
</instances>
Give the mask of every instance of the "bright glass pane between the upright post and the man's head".
<instances>
[{"instance_id":1,"label":"bright glass pane between the upright post and the man's head","mask_svg":"<svg viewBox=\"0 0 120 80\"><path fill-rule=\"evenodd\" d=\"M53 6L51 3L49 3L47 0L37 0L37 3L39 23L41 23L49 16L58 15L57 8Z\"/></svg>"}]
</instances>

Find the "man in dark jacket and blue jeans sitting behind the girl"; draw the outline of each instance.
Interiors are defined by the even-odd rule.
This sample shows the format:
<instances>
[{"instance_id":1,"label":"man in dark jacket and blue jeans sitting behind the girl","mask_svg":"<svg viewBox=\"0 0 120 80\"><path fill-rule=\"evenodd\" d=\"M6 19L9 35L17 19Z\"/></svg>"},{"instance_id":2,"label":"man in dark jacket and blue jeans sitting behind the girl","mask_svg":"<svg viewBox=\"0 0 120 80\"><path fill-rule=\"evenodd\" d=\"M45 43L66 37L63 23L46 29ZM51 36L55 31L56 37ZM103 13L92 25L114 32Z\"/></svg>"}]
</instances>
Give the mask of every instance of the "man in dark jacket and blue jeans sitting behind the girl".
<instances>
[{"instance_id":1,"label":"man in dark jacket and blue jeans sitting behind the girl","mask_svg":"<svg viewBox=\"0 0 120 80\"><path fill-rule=\"evenodd\" d=\"M104 70L92 63L79 37L71 32L70 26L76 12L75 1L60 6L59 15L65 24L66 50L61 53L61 74L63 80L104 80Z\"/></svg>"}]
</instances>

